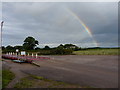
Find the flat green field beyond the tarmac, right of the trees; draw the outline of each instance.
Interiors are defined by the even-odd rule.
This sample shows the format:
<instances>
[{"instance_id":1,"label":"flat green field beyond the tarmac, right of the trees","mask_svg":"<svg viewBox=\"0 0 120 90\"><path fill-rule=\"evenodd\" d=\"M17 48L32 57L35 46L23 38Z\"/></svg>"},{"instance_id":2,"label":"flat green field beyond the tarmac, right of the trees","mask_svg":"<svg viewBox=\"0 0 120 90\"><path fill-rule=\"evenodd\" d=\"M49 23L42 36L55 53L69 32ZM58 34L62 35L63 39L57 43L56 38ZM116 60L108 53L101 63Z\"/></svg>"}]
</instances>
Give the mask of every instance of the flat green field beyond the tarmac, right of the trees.
<instances>
[{"instance_id":1,"label":"flat green field beyond the tarmac, right of the trees","mask_svg":"<svg viewBox=\"0 0 120 90\"><path fill-rule=\"evenodd\" d=\"M120 55L118 52L120 49L88 49L74 51L75 55Z\"/></svg>"}]
</instances>

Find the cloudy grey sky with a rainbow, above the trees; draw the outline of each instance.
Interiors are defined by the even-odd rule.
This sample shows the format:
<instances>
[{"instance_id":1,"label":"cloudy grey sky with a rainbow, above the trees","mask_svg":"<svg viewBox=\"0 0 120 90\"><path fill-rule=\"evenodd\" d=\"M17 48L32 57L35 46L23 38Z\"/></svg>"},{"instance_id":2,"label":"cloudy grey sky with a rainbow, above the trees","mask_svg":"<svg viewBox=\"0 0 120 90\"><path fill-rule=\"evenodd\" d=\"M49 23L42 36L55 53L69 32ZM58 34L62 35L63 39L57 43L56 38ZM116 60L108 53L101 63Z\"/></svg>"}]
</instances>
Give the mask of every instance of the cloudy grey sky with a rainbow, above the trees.
<instances>
[{"instance_id":1,"label":"cloudy grey sky with a rainbow, above the trees","mask_svg":"<svg viewBox=\"0 0 120 90\"><path fill-rule=\"evenodd\" d=\"M118 46L117 2L3 2L2 20L4 46L22 45L28 36L38 47Z\"/></svg>"}]
</instances>

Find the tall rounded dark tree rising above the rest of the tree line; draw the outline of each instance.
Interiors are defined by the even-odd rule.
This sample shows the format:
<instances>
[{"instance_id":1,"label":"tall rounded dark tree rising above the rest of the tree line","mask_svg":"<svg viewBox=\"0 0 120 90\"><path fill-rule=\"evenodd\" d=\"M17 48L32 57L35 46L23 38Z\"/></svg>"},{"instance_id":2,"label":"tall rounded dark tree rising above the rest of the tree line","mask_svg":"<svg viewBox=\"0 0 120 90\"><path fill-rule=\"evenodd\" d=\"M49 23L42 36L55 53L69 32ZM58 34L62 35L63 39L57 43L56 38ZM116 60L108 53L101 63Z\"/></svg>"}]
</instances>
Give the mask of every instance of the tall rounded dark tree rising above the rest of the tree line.
<instances>
[{"instance_id":1,"label":"tall rounded dark tree rising above the rest of the tree line","mask_svg":"<svg viewBox=\"0 0 120 90\"><path fill-rule=\"evenodd\" d=\"M37 45L39 45L39 42L29 36L24 40L23 48L25 50L33 50Z\"/></svg>"}]
</instances>

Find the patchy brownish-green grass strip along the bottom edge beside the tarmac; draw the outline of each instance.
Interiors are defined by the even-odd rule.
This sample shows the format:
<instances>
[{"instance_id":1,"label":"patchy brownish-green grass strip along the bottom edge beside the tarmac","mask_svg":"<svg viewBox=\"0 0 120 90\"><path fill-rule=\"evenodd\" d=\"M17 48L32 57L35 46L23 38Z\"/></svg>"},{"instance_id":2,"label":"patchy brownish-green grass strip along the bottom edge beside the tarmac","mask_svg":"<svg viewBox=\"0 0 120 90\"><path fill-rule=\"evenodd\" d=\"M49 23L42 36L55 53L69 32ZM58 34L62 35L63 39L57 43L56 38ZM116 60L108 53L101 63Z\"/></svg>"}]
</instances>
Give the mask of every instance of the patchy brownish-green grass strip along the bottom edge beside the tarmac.
<instances>
[{"instance_id":1,"label":"patchy brownish-green grass strip along the bottom edge beside the tarmac","mask_svg":"<svg viewBox=\"0 0 120 90\"><path fill-rule=\"evenodd\" d=\"M14 88L84 88L80 85L53 81L41 76L29 75L28 77L22 78ZM89 87L85 87L89 88Z\"/></svg>"}]
</instances>

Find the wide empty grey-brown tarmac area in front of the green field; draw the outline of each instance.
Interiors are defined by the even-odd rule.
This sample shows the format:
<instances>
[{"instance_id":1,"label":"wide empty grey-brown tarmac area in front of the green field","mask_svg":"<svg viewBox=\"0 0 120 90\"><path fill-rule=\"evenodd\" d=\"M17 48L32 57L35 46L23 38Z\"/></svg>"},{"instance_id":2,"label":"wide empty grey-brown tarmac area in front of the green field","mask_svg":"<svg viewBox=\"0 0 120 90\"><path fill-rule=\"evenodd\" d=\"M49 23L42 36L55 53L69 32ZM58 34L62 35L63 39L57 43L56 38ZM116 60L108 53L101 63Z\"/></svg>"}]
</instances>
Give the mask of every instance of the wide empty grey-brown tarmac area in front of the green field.
<instances>
[{"instance_id":1,"label":"wide empty grey-brown tarmac area in front of the green field","mask_svg":"<svg viewBox=\"0 0 120 90\"><path fill-rule=\"evenodd\" d=\"M51 60L34 61L41 67L32 65L26 67L25 64L19 64L21 67L18 69L24 73L81 86L118 88L118 56L66 55L50 57ZM17 64L14 67L17 67Z\"/></svg>"}]
</instances>

